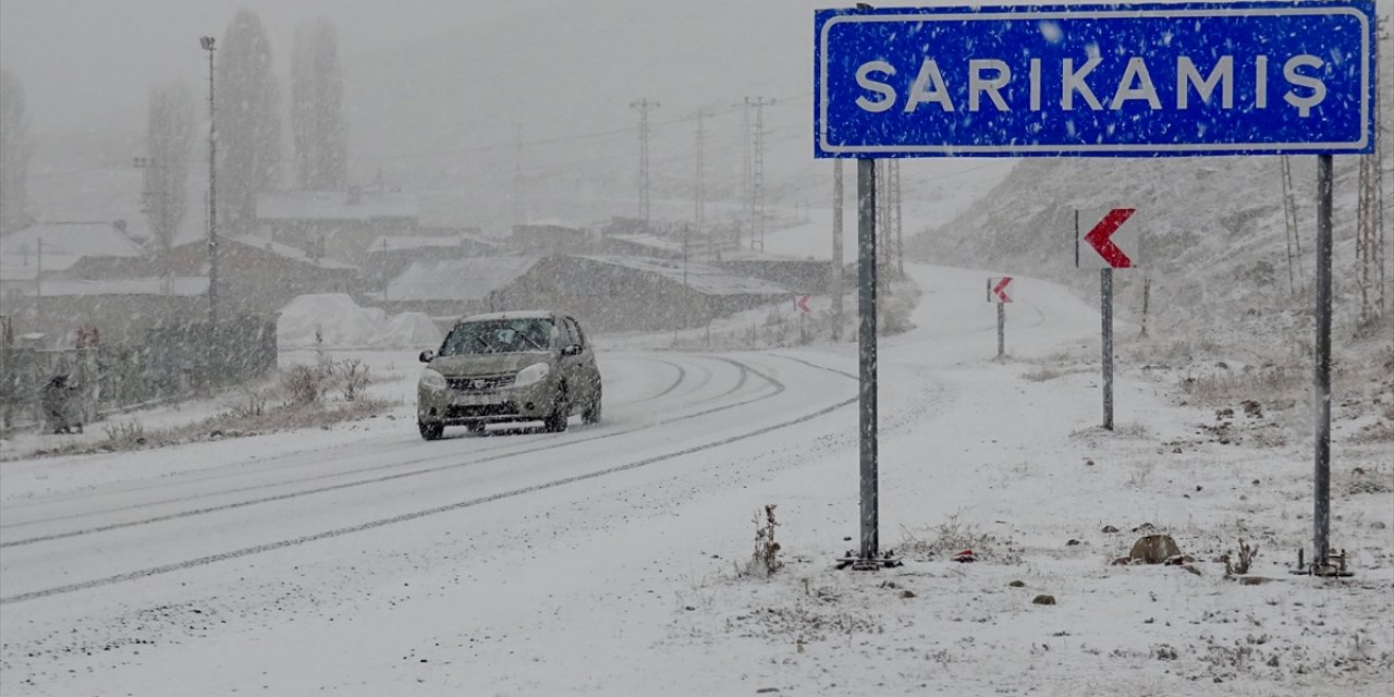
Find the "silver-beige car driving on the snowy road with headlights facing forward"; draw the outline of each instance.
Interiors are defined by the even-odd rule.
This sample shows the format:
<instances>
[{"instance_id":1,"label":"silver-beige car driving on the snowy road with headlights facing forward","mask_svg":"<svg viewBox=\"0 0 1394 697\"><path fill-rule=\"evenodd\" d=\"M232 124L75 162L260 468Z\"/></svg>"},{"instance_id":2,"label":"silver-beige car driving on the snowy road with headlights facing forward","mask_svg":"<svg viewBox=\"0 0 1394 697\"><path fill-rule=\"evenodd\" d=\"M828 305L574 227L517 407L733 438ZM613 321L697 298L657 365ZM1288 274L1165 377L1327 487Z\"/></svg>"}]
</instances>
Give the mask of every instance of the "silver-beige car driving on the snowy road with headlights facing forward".
<instances>
[{"instance_id":1,"label":"silver-beige car driving on the snowy road with headlights facing forward","mask_svg":"<svg viewBox=\"0 0 1394 697\"><path fill-rule=\"evenodd\" d=\"M548 311L493 312L456 322L438 351L422 351L417 427L435 441L447 425L541 421L566 431L580 414L601 420L601 374L574 318Z\"/></svg>"}]
</instances>

